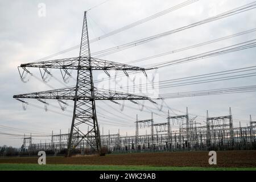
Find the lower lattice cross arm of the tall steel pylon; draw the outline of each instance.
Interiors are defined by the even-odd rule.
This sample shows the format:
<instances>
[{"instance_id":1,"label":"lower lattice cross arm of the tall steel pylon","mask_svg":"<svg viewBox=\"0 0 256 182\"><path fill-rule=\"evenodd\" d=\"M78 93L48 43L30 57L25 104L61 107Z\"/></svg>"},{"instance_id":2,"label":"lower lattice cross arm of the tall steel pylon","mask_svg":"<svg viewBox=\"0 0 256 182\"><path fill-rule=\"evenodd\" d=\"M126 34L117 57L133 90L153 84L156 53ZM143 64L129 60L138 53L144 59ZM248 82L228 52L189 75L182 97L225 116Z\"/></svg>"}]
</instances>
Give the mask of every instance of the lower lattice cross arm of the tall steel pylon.
<instances>
[{"instance_id":1,"label":"lower lattice cross arm of the tall steel pylon","mask_svg":"<svg viewBox=\"0 0 256 182\"><path fill-rule=\"evenodd\" d=\"M57 99L57 100L75 100L76 87L63 89L47 90L43 92L34 92L27 94L14 95L14 98L35 98L35 99ZM94 88L94 96L78 94L77 100L150 100L149 97L139 96L136 94L114 92L111 90ZM153 102L153 101L151 101Z\"/></svg>"}]
</instances>

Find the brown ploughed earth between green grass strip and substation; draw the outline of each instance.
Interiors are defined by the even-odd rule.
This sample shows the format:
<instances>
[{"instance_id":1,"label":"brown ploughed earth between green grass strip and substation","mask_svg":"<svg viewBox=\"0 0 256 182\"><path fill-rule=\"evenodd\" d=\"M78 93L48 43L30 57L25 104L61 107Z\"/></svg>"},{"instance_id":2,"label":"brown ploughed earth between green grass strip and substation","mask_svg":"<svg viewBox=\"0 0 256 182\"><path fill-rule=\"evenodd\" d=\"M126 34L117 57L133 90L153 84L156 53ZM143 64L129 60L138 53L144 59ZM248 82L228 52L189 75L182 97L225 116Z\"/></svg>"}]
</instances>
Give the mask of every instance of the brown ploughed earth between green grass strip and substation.
<instances>
[{"instance_id":1,"label":"brown ploughed earth between green grass strip and substation","mask_svg":"<svg viewBox=\"0 0 256 182\"><path fill-rule=\"evenodd\" d=\"M256 167L256 151L217 151L217 165L209 165L208 151L118 154L106 156L48 156L47 164L89 164L173 167ZM37 164L38 157L0 158L0 163Z\"/></svg>"}]
</instances>

